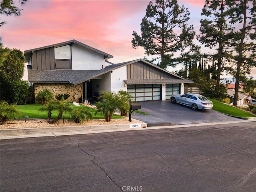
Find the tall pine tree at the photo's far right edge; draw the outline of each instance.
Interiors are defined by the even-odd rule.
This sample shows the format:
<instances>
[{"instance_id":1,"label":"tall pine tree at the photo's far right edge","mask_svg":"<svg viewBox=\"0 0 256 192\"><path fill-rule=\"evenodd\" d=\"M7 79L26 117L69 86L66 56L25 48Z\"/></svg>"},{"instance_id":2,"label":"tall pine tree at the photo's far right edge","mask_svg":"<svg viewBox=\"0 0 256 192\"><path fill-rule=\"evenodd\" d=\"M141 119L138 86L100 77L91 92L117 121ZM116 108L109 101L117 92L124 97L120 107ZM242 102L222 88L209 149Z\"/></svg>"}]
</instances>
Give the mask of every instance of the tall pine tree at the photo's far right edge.
<instances>
[{"instance_id":1,"label":"tall pine tree at the photo's far right edge","mask_svg":"<svg viewBox=\"0 0 256 192\"><path fill-rule=\"evenodd\" d=\"M239 78L241 68L256 66L256 1L242 0L233 5L235 16L231 23L242 23L240 28L234 28L232 32L233 46L236 48L236 83L234 94L234 106L237 106ZM248 71L249 73L249 71Z\"/></svg>"}]
</instances>

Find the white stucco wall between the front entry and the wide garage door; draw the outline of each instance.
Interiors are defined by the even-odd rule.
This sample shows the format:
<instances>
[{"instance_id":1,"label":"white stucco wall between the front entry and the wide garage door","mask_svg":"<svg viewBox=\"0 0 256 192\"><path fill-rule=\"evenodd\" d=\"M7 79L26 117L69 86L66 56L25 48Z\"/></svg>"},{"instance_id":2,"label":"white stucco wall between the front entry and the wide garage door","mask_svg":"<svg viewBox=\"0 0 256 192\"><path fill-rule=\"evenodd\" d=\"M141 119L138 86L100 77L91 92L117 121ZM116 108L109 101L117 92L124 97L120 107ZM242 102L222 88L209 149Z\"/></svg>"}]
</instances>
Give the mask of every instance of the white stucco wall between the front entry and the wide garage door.
<instances>
[{"instance_id":1,"label":"white stucco wall between the front entry and the wide garage door","mask_svg":"<svg viewBox=\"0 0 256 192\"><path fill-rule=\"evenodd\" d=\"M116 93L119 90L127 91L127 87L124 87L124 79L127 79L126 66L120 67L116 70L113 70L111 74L111 91L115 91Z\"/></svg>"}]
</instances>

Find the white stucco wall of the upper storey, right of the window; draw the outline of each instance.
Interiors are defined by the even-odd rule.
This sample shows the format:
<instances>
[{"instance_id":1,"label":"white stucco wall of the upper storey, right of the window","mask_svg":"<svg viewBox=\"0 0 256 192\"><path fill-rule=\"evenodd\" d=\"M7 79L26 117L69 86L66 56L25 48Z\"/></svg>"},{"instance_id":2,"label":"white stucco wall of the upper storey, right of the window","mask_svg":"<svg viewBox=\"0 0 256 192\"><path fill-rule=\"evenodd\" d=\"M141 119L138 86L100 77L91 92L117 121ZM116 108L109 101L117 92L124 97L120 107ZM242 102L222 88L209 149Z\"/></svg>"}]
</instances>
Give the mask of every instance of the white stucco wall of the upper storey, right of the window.
<instances>
[{"instance_id":1,"label":"white stucco wall of the upper storey, right of the window","mask_svg":"<svg viewBox=\"0 0 256 192\"><path fill-rule=\"evenodd\" d=\"M105 59L102 54L73 44L71 48L72 70L100 70L105 68Z\"/></svg>"}]
</instances>

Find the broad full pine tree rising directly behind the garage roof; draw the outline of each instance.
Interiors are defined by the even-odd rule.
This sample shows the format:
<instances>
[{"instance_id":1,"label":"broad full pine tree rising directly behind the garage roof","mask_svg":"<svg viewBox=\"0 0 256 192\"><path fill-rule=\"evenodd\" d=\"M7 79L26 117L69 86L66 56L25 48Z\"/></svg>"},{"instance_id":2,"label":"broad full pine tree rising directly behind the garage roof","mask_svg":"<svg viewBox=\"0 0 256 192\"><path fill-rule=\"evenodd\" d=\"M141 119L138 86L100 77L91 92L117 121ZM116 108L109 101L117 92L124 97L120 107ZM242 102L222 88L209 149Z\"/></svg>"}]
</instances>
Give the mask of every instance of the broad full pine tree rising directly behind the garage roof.
<instances>
[{"instance_id":1,"label":"broad full pine tree rising directly behind the garage roof","mask_svg":"<svg viewBox=\"0 0 256 192\"><path fill-rule=\"evenodd\" d=\"M156 56L154 61L164 69L182 62L181 58L198 48L192 44L195 32L193 26L187 24L189 15L188 8L179 6L176 0L156 0L155 4L150 1L140 24L141 36L133 31L132 47L144 47L145 53ZM173 58L176 52L184 52L189 47L186 54Z\"/></svg>"}]
</instances>

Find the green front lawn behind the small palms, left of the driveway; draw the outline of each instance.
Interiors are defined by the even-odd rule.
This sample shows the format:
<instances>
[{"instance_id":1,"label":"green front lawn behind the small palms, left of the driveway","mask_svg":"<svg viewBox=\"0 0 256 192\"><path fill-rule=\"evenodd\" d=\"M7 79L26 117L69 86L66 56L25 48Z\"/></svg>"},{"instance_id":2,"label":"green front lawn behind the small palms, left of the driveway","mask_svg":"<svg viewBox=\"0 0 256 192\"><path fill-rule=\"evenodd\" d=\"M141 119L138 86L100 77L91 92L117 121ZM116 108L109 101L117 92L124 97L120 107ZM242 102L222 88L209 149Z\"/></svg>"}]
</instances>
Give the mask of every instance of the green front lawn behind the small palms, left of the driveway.
<instances>
[{"instance_id":1,"label":"green front lawn behind the small palms, left of the driveway","mask_svg":"<svg viewBox=\"0 0 256 192\"><path fill-rule=\"evenodd\" d=\"M30 119L46 119L48 116L48 112L38 112L38 110L42 107L41 104L26 104L26 105L17 105L18 109L21 111L22 116L20 118L25 118L25 116L27 115ZM80 108L80 107L86 107L84 105L80 105L80 106L74 106L75 108ZM95 109L92 109L92 114L93 114L93 119L105 119L104 116L100 113L98 113L97 115L95 115ZM58 112L53 111L52 112L52 119L56 118L58 115ZM70 116L67 115L64 117L65 119L70 119ZM120 119L120 118L125 118L119 115L114 115L112 117L113 119Z\"/></svg>"}]
</instances>

